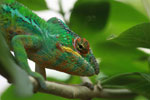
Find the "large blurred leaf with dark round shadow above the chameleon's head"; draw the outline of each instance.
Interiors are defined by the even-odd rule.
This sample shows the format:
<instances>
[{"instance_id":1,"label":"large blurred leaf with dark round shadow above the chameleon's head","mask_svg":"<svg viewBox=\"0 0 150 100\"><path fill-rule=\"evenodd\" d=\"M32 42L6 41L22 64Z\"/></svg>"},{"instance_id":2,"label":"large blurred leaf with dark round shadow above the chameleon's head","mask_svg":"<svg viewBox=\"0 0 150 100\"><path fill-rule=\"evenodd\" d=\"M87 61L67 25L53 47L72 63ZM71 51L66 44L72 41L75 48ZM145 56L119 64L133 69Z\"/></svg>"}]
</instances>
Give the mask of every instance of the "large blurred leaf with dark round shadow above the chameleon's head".
<instances>
[{"instance_id":1,"label":"large blurred leaf with dark round shadow above the chameleon's head","mask_svg":"<svg viewBox=\"0 0 150 100\"><path fill-rule=\"evenodd\" d=\"M95 18L90 20L93 21L91 24L88 16L92 15ZM114 0L78 0L71 13L70 26L77 34L86 37L91 43L95 43L106 40L111 34L119 35L136 24L148 21L148 17L143 13L122 2ZM103 27L100 28L99 26ZM105 30L103 30L104 28Z\"/></svg>"}]
</instances>

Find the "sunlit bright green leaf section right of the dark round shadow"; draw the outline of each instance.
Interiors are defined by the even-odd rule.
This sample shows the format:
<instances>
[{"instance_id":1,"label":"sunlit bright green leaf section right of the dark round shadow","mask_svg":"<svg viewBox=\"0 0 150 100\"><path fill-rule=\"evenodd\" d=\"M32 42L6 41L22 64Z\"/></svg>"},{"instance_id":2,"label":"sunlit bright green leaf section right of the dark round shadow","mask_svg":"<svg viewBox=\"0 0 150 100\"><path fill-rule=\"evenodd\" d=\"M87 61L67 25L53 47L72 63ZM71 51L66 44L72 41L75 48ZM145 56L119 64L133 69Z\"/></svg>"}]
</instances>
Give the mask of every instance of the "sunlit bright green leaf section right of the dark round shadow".
<instances>
[{"instance_id":1,"label":"sunlit bright green leaf section right of the dark round shadow","mask_svg":"<svg viewBox=\"0 0 150 100\"><path fill-rule=\"evenodd\" d=\"M109 14L109 23L106 29L109 35L119 35L132 26L149 21L147 16L131 5L114 0L111 0L110 3L111 10Z\"/></svg>"}]
</instances>

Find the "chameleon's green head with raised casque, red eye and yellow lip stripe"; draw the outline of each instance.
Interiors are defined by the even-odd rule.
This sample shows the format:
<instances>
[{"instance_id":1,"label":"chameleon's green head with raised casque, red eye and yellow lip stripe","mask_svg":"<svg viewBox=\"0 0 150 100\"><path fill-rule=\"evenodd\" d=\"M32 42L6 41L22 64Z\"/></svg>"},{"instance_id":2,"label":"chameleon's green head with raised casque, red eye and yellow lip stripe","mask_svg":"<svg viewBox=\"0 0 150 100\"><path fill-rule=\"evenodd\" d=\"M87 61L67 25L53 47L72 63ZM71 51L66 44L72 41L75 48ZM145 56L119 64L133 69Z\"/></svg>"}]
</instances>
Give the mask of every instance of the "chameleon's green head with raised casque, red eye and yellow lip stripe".
<instances>
[{"instance_id":1,"label":"chameleon's green head with raised casque, red eye and yellow lip stripe","mask_svg":"<svg viewBox=\"0 0 150 100\"><path fill-rule=\"evenodd\" d=\"M53 68L73 75L92 76L99 73L99 65L88 41L72 32L60 19L51 18L51 33L57 34L56 61Z\"/></svg>"}]
</instances>

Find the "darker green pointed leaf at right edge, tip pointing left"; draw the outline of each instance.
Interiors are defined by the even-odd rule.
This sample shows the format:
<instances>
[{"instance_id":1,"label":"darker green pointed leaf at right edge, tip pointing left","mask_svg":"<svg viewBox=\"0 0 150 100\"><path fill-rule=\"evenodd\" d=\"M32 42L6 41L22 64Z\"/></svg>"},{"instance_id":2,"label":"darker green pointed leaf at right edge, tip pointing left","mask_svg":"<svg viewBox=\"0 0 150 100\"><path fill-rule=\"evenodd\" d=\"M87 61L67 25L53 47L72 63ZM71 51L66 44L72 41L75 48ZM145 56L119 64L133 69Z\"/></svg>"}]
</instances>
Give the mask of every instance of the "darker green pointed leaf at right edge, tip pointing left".
<instances>
[{"instance_id":1,"label":"darker green pointed leaf at right edge, tip pointing left","mask_svg":"<svg viewBox=\"0 0 150 100\"><path fill-rule=\"evenodd\" d=\"M150 48L150 23L136 25L121 33L113 41L123 46Z\"/></svg>"}]
</instances>

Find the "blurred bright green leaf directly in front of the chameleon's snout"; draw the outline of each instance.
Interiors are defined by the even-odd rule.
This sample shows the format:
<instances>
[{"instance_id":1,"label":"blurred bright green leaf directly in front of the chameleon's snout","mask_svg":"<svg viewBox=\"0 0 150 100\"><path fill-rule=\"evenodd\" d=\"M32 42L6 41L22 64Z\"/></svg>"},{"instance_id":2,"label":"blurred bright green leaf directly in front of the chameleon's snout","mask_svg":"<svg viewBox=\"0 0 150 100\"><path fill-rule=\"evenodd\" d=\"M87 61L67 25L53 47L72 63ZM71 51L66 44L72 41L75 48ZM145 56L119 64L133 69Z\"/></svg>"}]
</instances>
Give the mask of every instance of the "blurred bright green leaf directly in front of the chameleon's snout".
<instances>
[{"instance_id":1,"label":"blurred bright green leaf directly in front of the chameleon's snout","mask_svg":"<svg viewBox=\"0 0 150 100\"><path fill-rule=\"evenodd\" d=\"M148 55L135 49L126 48L112 42L97 43L93 49L100 57L100 70L106 75L125 72L148 72Z\"/></svg>"}]
</instances>

